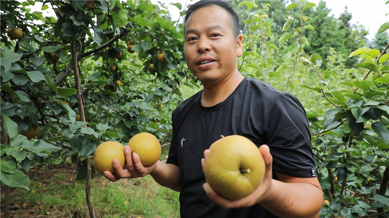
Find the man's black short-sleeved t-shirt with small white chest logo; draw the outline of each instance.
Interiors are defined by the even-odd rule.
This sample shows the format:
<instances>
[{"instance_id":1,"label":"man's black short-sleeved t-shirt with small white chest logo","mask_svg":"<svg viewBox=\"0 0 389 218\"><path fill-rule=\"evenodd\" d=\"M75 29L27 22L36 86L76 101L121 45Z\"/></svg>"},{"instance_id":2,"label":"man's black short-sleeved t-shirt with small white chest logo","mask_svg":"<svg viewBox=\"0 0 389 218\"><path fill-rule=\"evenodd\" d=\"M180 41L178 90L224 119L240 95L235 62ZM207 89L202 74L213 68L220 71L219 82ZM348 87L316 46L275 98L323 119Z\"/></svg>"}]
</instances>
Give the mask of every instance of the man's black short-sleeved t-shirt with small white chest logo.
<instances>
[{"instance_id":1,"label":"man's black short-sleeved t-shirt with small white chest logo","mask_svg":"<svg viewBox=\"0 0 389 218\"><path fill-rule=\"evenodd\" d=\"M172 116L173 138L167 163L179 167L181 217L275 217L260 204L225 210L209 200L202 188L205 176L201 158L220 135L242 135L258 147L270 147L274 172L316 176L308 120L301 103L289 93L248 77L215 106L201 106L202 93L181 103Z\"/></svg>"}]
</instances>

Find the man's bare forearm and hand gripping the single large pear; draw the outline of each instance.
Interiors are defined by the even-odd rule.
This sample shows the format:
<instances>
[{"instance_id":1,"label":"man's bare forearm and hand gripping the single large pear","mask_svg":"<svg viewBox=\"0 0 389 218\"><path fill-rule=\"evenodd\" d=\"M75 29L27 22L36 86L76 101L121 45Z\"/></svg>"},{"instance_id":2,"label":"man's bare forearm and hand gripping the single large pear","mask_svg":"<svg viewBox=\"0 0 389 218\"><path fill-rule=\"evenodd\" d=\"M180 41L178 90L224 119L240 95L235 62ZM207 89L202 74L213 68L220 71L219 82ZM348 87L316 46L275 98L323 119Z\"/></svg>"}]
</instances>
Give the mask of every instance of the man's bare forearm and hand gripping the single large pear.
<instances>
[{"instance_id":1,"label":"man's bare forearm and hand gripping the single large pear","mask_svg":"<svg viewBox=\"0 0 389 218\"><path fill-rule=\"evenodd\" d=\"M276 173L278 180L273 179L272 156L269 147L262 145L259 150L265 160L266 172L261 185L252 194L239 200L230 200L216 193L208 183L205 183L203 188L208 197L226 209L260 203L268 211L281 218L318 217L323 205L323 192L318 178L299 178ZM206 161L208 154L209 150L206 150L202 164Z\"/></svg>"}]
</instances>

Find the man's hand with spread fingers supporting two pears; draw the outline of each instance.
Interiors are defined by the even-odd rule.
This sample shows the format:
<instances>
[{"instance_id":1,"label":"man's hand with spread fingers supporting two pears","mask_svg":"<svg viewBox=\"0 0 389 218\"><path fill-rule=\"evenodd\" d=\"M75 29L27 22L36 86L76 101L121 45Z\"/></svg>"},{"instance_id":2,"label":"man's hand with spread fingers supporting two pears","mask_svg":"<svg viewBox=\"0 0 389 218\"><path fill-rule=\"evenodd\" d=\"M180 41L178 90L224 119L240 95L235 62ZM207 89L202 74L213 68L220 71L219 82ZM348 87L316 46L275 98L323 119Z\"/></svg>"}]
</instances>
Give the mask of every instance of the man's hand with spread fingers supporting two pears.
<instances>
[{"instance_id":1,"label":"man's hand with spread fingers supporting two pears","mask_svg":"<svg viewBox=\"0 0 389 218\"><path fill-rule=\"evenodd\" d=\"M151 167L144 167L141 163L141 159L139 158L138 154L136 154L135 152L131 154L131 149L128 145L124 146L124 156L124 168L122 168L118 159L114 159L112 161L112 166L115 170L115 174L112 174L110 171L104 171L104 176L108 180L116 182L122 178L133 179L138 177L144 177L148 175L151 171L153 171L156 167L156 164Z\"/></svg>"}]
</instances>

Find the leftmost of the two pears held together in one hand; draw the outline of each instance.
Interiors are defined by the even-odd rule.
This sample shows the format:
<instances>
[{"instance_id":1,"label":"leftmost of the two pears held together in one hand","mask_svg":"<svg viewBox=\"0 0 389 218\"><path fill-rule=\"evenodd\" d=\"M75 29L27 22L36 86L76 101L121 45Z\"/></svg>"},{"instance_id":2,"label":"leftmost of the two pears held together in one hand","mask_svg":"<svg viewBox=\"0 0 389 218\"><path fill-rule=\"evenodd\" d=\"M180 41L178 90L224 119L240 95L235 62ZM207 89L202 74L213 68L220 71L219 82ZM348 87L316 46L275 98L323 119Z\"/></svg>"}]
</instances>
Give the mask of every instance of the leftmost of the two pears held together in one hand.
<instances>
[{"instance_id":1,"label":"leftmost of the two pears held together in one hand","mask_svg":"<svg viewBox=\"0 0 389 218\"><path fill-rule=\"evenodd\" d=\"M112 167L113 159L118 159L120 165L124 167L124 146L116 141L105 141L97 146L94 151L93 167L96 171L103 174L104 171L115 173Z\"/></svg>"}]
</instances>

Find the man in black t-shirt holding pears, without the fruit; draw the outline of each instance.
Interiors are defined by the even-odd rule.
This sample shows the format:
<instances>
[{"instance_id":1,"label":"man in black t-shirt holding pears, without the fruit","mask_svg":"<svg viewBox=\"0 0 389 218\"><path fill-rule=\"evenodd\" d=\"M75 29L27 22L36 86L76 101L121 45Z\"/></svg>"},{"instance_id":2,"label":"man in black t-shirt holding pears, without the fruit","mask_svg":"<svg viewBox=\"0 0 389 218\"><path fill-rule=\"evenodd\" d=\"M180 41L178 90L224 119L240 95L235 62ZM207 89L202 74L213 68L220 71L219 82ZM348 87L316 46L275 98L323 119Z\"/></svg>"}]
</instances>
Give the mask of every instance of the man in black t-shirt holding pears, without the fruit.
<instances>
[{"instance_id":1,"label":"man in black t-shirt holding pears, without the fruit","mask_svg":"<svg viewBox=\"0 0 389 218\"><path fill-rule=\"evenodd\" d=\"M173 112L166 163L143 167L125 146L126 168L113 161L111 181L150 174L180 191L181 217L318 217L323 194L316 177L308 121L300 102L257 79L241 75L239 20L225 1L199 1L185 17L185 58L204 89ZM206 183L202 166L220 135L243 135L264 156L265 178L254 193L226 199ZM204 158L202 158L204 157Z\"/></svg>"}]
</instances>

